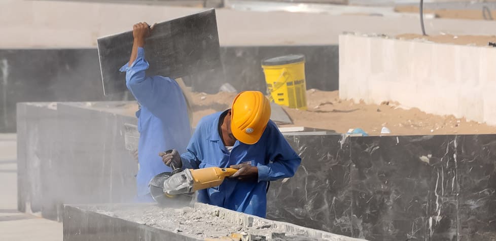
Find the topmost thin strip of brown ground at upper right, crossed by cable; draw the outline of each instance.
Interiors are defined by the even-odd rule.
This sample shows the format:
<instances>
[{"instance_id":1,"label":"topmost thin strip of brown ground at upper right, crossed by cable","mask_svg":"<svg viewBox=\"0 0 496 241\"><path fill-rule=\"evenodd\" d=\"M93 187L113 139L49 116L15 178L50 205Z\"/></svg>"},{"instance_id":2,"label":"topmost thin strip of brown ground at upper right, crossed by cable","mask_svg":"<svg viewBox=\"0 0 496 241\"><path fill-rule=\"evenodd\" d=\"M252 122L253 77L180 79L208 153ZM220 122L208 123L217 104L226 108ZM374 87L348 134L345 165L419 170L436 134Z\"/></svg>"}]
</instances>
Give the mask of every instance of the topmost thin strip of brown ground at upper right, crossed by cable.
<instances>
[{"instance_id":1,"label":"topmost thin strip of brown ground at upper right, crossed by cable","mask_svg":"<svg viewBox=\"0 0 496 241\"><path fill-rule=\"evenodd\" d=\"M455 1L453 1L455 2ZM418 13L418 6L397 6L396 12L400 13ZM496 18L496 11L492 10L491 16ZM424 7L423 13L435 14L438 18L457 18L457 19L471 19L471 20L484 20L484 15L481 10L473 9L426 9ZM489 18L486 13L486 17Z\"/></svg>"}]
</instances>

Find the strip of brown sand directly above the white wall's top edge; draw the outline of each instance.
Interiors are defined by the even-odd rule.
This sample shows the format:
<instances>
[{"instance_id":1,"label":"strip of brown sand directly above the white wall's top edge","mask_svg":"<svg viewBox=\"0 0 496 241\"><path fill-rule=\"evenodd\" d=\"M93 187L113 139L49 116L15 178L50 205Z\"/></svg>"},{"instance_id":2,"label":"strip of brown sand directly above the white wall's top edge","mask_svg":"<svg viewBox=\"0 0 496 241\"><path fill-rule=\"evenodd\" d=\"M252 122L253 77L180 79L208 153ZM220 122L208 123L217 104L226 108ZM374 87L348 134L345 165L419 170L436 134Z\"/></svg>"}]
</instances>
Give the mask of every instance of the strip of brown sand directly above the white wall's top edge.
<instances>
[{"instance_id":1,"label":"strip of brown sand directly above the white wall's top edge","mask_svg":"<svg viewBox=\"0 0 496 241\"><path fill-rule=\"evenodd\" d=\"M406 33L398 35L396 38L401 40L422 39L436 43L443 44L458 44L458 45L474 45L474 46L488 46L489 42L496 43L496 36L473 36L473 35L435 35L435 36L422 36L414 33Z\"/></svg>"}]
</instances>

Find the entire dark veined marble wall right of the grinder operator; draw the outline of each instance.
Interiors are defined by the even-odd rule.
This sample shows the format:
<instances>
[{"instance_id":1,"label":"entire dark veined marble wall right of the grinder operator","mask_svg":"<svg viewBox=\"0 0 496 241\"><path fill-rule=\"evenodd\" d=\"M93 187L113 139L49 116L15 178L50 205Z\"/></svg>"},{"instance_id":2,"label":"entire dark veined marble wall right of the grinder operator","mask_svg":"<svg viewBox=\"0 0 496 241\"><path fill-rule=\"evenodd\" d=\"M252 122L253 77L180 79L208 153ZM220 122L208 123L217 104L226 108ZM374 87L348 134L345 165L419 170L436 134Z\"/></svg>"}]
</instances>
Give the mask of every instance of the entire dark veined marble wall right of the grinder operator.
<instances>
[{"instance_id":1,"label":"entire dark veined marble wall right of the grinder operator","mask_svg":"<svg viewBox=\"0 0 496 241\"><path fill-rule=\"evenodd\" d=\"M272 182L269 218L369 240L496 240L496 135L340 138L287 137L302 166Z\"/></svg>"}]
</instances>

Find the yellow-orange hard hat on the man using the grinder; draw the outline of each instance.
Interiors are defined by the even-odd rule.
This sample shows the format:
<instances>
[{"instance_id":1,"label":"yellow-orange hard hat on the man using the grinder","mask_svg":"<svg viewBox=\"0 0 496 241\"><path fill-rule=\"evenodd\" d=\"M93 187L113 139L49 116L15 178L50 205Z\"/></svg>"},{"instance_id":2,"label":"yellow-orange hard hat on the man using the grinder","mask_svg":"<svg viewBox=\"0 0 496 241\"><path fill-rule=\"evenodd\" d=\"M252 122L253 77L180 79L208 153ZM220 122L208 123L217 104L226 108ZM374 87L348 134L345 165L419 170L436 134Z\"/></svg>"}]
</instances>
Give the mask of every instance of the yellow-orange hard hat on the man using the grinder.
<instances>
[{"instance_id":1,"label":"yellow-orange hard hat on the man using the grinder","mask_svg":"<svg viewBox=\"0 0 496 241\"><path fill-rule=\"evenodd\" d=\"M231 131L244 144L257 143L269 119L270 103L260 91L243 91L232 101Z\"/></svg>"}]
</instances>

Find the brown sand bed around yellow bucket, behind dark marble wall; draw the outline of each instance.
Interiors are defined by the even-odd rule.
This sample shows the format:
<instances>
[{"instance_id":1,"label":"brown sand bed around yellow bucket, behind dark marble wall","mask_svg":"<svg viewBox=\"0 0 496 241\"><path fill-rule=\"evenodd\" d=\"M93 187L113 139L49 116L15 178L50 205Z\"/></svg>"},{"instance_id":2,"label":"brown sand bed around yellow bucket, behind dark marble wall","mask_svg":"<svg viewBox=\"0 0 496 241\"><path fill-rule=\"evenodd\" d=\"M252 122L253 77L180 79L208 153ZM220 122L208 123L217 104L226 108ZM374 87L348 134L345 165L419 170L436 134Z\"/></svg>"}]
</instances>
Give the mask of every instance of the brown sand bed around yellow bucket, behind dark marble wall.
<instances>
[{"instance_id":1,"label":"brown sand bed around yellow bucket, behind dark marble wall","mask_svg":"<svg viewBox=\"0 0 496 241\"><path fill-rule=\"evenodd\" d=\"M229 108L235 93L192 93L193 124L201 117ZM464 118L439 116L416 108L406 110L400 104L384 102L383 105L366 105L352 100L339 99L338 91L307 91L308 110L284 108L294 121L293 126L332 129L345 133L350 128L362 128L378 135L383 126L392 135L423 134L488 134L496 133L495 126L488 126Z\"/></svg>"}]
</instances>

